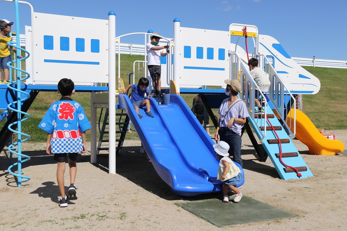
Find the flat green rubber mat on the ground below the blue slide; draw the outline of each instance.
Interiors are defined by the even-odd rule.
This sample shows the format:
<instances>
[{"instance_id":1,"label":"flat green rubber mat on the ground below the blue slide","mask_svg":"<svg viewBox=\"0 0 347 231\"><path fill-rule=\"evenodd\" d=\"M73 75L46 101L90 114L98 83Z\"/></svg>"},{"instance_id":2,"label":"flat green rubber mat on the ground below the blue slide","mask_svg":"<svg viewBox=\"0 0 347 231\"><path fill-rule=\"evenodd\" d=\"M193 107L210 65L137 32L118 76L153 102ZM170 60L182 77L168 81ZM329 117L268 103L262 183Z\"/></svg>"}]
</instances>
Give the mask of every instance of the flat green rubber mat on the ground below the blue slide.
<instances>
[{"instance_id":1,"label":"flat green rubber mat on the ground below the blue slide","mask_svg":"<svg viewBox=\"0 0 347 231\"><path fill-rule=\"evenodd\" d=\"M223 203L221 199L206 199L178 204L218 227L297 216L294 213L246 196L242 196L241 201L238 203L233 203L232 199L233 196L230 197L228 203Z\"/></svg>"}]
</instances>

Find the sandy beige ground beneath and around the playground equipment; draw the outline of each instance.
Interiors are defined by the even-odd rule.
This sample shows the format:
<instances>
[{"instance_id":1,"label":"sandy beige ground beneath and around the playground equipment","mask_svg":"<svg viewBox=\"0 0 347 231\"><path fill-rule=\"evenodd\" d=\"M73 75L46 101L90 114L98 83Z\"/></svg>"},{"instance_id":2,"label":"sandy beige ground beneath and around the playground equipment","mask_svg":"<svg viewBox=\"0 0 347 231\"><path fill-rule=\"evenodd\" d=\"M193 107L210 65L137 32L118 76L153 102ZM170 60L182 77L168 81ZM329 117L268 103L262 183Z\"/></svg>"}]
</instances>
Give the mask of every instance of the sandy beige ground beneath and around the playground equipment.
<instances>
[{"instance_id":1,"label":"sandy beige ground beneath and around the playground equipment","mask_svg":"<svg viewBox=\"0 0 347 231\"><path fill-rule=\"evenodd\" d=\"M334 132L347 147L347 130ZM314 177L281 180L269 158L265 163L254 158L255 151L244 136L241 191L298 216L223 228L176 205L221 195L183 198L172 193L146 155L139 154L139 141L125 142L117 156L117 174L108 174L108 155L99 155L98 164L89 162L88 152L79 156L78 199L65 208L58 206L56 163L45 154L45 144L26 143L23 153L31 160L23 164L22 172L31 179L21 187L8 173L9 152L0 154L0 230L347 230L347 156L308 155L305 145L294 143ZM68 183L66 172L66 188Z\"/></svg>"}]
</instances>

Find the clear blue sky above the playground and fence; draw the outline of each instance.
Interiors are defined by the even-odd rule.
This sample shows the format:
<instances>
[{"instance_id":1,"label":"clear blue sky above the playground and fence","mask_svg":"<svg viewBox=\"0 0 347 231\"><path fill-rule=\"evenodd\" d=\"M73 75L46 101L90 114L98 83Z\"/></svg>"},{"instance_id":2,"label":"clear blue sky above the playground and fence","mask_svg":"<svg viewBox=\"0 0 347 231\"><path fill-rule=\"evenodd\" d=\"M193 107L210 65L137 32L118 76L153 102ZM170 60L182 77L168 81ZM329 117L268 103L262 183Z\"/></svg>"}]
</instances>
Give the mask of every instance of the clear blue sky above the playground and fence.
<instances>
[{"instance_id":1,"label":"clear blue sky above the playground and fence","mask_svg":"<svg viewBox=\"0 0 347 231\"><path fill-rule=\"evenodd\" d=\"M347 60L346 0L28 0L34 12L84 18L117 16L117 36L153 30L173 37L173 19L181 27L228 31L231 23L255 25L276 38L292 57ZM0 1L1 19L15 20L14 3ZM20 29L31 25L29 7L20 7ZM65 25L62 25L64 27ZM13 28L15 32L15 27ZM91 28L98 33L98 28ZM213 38L218 43L218 38ZM142 41L142 40L141 40ZM140 43L130 38L128 43Z\"/></svg>"}]
</instances>

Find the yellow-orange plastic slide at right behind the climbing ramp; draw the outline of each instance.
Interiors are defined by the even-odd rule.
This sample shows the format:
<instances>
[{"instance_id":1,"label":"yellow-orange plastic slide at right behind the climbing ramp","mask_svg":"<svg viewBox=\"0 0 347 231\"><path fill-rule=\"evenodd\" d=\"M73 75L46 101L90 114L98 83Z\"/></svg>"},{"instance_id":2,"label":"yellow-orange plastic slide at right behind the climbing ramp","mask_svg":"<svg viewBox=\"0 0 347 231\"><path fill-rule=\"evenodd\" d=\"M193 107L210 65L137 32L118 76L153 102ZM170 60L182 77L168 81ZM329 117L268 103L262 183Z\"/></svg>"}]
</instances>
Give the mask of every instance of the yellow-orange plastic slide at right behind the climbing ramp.
<instances>
[{"instance_id":1,"label":"yellow-orange plastic slide at right behind the climbing ramp","mask_svg":"<svg viewBox=\"0 0 347 231\"><path fill-rule=\"evenodd\" d=\"M290 118L294 118L293 108L290 112ZM293 119L291 120L291 123L293 124ZM289 121L287 124L289 124ZM295 136L308 147L309 152L312 155L335 155L344 150L344 145L341 141L329 140L324 137L318 132L317 128L306 114L298 109L296 109Z\"/></svg>"}]
</instances>

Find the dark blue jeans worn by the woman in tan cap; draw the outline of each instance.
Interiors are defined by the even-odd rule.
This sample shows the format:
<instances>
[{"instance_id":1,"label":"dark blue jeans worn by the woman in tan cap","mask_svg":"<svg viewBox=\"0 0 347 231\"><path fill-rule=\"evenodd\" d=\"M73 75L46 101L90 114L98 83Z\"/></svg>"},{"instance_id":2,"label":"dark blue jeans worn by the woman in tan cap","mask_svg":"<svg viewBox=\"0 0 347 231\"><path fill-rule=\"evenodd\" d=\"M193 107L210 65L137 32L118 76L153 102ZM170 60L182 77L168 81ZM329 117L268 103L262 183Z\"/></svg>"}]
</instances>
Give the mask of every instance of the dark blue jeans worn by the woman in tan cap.
<instances>
[{"instance_id":1,"label":"dark blue jeans worn by the woman in tan cap","mask_svg":"<svg viewBox=\"0 0 347 231\"><path fill-rule=\"evenodd\" d=\"M232 160L236 163L239 163L243 168L241 159L241 136L237 135L228 128L222 127L220 128L219 137L221 141L228 143L228 145L230 146L229 154L233 157Z\"/></svg>"}]
</instances>

